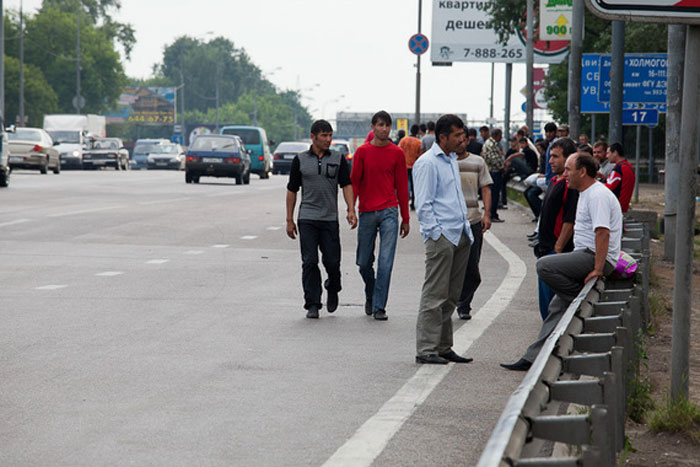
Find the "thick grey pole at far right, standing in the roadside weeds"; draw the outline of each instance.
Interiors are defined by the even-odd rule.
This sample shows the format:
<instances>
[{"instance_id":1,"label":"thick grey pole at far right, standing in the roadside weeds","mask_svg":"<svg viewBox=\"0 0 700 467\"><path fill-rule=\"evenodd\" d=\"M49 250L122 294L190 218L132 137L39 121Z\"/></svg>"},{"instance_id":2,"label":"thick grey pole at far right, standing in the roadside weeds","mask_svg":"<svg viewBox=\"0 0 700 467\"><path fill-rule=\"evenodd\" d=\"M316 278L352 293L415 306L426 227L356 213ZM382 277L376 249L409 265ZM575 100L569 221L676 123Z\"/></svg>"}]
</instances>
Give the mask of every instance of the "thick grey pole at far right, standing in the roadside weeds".
<instances>
[{"instance_id":1,"label":"thick grey pole at far right, standing in the roadside weeds","mask_svg":"<svg viewBox=\"0 0 700 467\"><path fill-rule=\"evenodd\" d=\"M671 399L688 399L690 377L690 310L693 305L693 235L695 177L698 165L698 108L700 108L700 26L688 26L683 70L683 109L680 139L680 193L676 222L676 262L673 283L671 339Z\"/></svg>"}]
</instances>

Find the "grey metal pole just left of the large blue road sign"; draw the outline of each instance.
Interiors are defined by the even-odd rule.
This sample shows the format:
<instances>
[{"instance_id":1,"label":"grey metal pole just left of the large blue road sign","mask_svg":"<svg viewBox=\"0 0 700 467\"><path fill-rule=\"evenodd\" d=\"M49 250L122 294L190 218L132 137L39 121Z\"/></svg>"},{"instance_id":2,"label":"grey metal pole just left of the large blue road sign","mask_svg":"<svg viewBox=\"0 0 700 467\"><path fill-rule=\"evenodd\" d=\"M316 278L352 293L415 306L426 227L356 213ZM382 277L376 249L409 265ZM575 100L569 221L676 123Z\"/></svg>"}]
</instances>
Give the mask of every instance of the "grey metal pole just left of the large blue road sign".
<instances>
[{"instance_id":1,"label":"grey metal pole just left of the large blue road sign","mask_svg":"<svg viewBox=\"0 0 700 467\"><path fill-rule=\"evenodd\" d=\"M569 132L578 138L581 133L581 56L583 54L583 0L573 0L569 55Z\"/></svg>"}]
</instances>

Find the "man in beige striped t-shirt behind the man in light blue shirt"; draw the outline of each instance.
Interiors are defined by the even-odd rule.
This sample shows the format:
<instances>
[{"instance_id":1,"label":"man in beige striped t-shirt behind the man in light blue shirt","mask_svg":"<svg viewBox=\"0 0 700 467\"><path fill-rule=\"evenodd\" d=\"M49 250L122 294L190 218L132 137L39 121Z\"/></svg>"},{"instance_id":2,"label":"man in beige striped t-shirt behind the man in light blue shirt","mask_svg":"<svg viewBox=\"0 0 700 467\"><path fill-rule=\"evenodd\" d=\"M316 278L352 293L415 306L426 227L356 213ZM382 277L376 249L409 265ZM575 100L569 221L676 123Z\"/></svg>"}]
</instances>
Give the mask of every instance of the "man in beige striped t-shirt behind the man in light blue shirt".
<instances>
[{"instance_id":1,"label":"man in beige striped t-shirt behind the man in light blue shirt","mask_svg":"<svg viewBox=\"0 0 700 467\"><path fill-rule=\"evenodd\" d=\"M465 128L466 130L466 128ZM480 156L469 151L457 150L457 165L462 179L462 194L467 204L467 219L474 237L474 242L469 249L469 261L467 271L462 283L462 293L457 302L457 315L460 319L471 319L472 299L476 289L481 284L479 261L481 259L481 247L484 243L484 232L491 228L491 185L493 180L489 175L486 162ZM479 191L484 200L484 214L479 211Z\"/></svg>"}]
</instances>

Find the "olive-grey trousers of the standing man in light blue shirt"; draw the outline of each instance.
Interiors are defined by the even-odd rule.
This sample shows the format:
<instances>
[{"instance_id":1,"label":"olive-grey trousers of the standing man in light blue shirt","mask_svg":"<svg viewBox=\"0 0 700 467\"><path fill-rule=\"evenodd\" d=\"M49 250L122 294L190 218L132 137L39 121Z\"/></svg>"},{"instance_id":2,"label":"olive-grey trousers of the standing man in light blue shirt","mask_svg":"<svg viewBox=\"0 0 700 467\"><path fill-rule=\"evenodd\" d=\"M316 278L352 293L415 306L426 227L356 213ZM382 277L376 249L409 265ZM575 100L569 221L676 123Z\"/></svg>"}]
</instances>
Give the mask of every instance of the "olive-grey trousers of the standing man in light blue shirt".
<instances>
[{"instance_id":1,"label":"olive-grey trousers of the standing man in light blue shirt","mask_svg":"<svg viewBox=\"0 0 700 467\"><path fill-rule=\"evenodd\" d=\"M455 246L444 236L425 243L425 280L416 323L416 355L452 348L452 313L462 292L471 242L463 232Z\"/></svg>"}]
</instances>

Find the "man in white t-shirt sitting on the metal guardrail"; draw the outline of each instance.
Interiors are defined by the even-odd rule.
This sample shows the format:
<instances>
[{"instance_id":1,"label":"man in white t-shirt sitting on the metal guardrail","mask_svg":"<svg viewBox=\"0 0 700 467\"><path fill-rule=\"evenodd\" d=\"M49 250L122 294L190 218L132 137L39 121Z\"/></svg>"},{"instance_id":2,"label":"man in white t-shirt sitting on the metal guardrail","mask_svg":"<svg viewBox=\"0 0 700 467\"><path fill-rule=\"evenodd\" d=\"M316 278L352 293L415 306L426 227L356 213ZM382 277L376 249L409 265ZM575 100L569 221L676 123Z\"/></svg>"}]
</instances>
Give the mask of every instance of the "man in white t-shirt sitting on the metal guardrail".
<instances>
[{"instance_id":1,"label":"man in white t-shirt sitting on the metal guardrail","mask_svg":"<svg viewBox=\"0 0 700 467\"><path fill-rule=\"evenodd\" d=\"M593 156L575 154L566 161L564 176L569 187L579 192L574 251L545 256L537 261L537 275L556 295L549 304L549 315L542 323L537 340L530 344L520 360L502 363L503 368L528 370L583 285L615 269L622 240L622 210L615 195L596 181L597 173L598 163Z\"/></svg>"}]
</instances>

